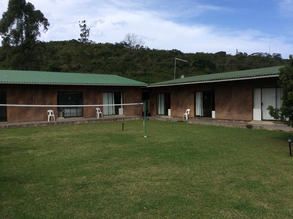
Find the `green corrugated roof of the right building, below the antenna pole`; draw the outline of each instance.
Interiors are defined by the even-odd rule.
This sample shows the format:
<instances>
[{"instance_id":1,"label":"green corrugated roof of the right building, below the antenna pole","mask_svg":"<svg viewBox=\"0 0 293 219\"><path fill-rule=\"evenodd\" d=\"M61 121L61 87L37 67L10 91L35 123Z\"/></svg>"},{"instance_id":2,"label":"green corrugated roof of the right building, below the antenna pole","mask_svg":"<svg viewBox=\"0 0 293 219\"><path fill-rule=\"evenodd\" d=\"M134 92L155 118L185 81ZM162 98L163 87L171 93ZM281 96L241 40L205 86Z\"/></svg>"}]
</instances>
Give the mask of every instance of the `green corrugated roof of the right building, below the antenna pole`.
<instances>
[{"instance_id":1,"label":"green corrugated roof of the right building, below the antenna pole","mask_svg":"<svg viewBox=\"0 0 293 219\"><path fill-rule=\"evenodd\" d=\"M225 80L225 79L277 75L279 74L280 67L282 66L260 68L260 69L250 69L250 70L243 70L243 71L236 71L236 72L224 72L224 73L217 73L217 74L205 74L205 75L180 78L180 79L175 79L170 81L158 82L158 83L150 84L149 86L182 84L182 83L192 83L192 82L207 82L207 81L217 81L217 80Z\"/></svg>"}]
</instances>

